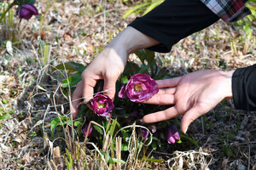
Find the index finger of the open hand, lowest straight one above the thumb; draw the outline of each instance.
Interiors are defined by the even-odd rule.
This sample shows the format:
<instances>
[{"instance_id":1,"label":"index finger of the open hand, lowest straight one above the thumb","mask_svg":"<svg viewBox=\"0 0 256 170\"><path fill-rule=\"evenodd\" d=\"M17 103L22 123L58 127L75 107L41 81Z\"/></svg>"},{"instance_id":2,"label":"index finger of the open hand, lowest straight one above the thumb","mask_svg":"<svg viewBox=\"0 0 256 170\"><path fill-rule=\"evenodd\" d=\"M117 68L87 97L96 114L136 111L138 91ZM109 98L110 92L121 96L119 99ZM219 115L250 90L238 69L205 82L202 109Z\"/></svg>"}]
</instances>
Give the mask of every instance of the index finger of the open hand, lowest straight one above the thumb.
<instances>
[{"instance_id":1,"label":"index finger of the open hand, lowest straight one above the thumb","mask_svg":"<svg viewBox=\"0 0 256 170\"><path fill-rule=\"evenodd\" d=\"M165 111L158 111L158 112L143 116L143 122L152 123L152 122L166 121L179 115L181 114L179 114L175 106L173 106L169 109L166 109Z\"/></svg>"}]
</instances>

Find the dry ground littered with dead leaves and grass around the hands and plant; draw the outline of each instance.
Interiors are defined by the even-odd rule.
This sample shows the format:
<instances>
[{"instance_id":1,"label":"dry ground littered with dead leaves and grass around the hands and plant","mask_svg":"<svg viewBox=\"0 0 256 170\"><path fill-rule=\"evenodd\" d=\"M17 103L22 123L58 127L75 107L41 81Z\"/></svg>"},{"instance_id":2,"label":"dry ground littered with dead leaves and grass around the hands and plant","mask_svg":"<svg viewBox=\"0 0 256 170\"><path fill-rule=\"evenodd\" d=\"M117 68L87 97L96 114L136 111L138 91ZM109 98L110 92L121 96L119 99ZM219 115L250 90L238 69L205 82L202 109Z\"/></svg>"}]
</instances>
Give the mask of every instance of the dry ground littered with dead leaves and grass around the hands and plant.
<instances>
[{"instance_id":1,"label":"dry ground littered with dead leaves and grass around the hands and plant","mask_svg":"<svg viewBox=\"0 0 256 170\"><path fill-rule=\"evenodd\" d=\"M68 114L71 99L70 94L61 92L65 75L52 69L67 61L88 65L135 19L135 14L122 19L132 2L38 0L35 5L39 16L20 23L14 17L13 26L11 21L2 23L1 169L52 166L52 151L61 142L50 133L49 122L56 113ZM253 20L250 26L252 36L243 27L245 23L240 24L219 20L178 42L171 53L157 55L170 74L180 76L191 71L230 71L256 64L256 22ZM131 54L130 60L138 59ZM255 112L237 111L232 100L225 100L190 125L188 135L198 145L186 139L182 144L162 144L152 155L163 162L149 162L148 169L255 169L255 125Z\"/></svg>"}]
</instances>

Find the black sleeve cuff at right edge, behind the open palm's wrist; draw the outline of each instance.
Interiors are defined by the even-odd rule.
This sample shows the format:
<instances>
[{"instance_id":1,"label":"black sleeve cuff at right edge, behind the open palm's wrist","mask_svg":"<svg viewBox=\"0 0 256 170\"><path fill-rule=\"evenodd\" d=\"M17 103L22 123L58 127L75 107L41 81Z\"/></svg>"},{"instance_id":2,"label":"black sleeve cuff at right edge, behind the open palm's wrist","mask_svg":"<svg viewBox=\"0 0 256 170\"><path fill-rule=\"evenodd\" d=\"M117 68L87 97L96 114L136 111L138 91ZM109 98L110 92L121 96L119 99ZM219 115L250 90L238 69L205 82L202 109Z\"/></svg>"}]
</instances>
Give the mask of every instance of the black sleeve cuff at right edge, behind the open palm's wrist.
<instances>
[{"instance_id":1,"label":"black sleeve cuff at right edge, behind the open palm's wrist","mask_svg":"<svg viewBox=\"0 0 256 170\"><path fill-rule=\"evenodd\" d=\"M233 73L232 92L236 109L256 111L256 65Z\"/></svg>"}]
</instances>

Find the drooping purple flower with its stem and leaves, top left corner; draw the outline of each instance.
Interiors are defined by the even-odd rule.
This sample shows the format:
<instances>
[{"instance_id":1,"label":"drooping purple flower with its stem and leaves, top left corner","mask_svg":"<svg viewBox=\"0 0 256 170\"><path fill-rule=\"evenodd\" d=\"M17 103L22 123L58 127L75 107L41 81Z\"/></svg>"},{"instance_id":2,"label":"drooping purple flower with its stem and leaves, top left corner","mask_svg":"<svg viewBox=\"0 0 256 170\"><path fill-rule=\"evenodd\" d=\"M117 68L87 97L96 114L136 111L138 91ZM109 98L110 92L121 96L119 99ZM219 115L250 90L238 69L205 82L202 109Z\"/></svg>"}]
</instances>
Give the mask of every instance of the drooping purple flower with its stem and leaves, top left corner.
<instances>
[{"instance_id":1,"label":"drooping purple flower with its stem and leaves, top left corner","mask_svg":"<svg viewBox=\"0 0 256 170\"><path fill-rule=\"evenodd\" d=\"M3 11L3 14L1 14L0 23L2 22L5 14L8 13L9 9L13 8L15 5L18 6L16 14L20 20L30 20L32 15L38 15L38 9L33 5L34 3L36 3L35 0L15 0L13 3L9 4L9 7Z\"/></svg>"}]
</instances>

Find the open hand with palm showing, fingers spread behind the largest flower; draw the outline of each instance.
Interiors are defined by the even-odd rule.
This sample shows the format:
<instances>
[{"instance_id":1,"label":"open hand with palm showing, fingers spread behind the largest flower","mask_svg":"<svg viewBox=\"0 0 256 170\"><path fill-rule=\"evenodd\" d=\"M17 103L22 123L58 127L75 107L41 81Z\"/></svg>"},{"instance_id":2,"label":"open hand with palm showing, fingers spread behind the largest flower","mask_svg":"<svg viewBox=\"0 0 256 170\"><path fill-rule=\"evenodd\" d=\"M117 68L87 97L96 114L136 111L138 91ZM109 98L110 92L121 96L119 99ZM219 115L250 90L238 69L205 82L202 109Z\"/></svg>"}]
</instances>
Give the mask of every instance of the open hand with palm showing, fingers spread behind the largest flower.
<instances>
[{"instance_id":1,"label":"open hand with palm showing, fingers spread behind the largest flower","mask_svg":"<svg viewBox=\"0 0 256 170\"><path fill-rule=\"evenodd\" d=\"M183 115L181 130L187 132L189 124L211 111L223 99L232 98L234 71L196 71L173 79L158 80L160 91L144 103L174 105L143 117L143 122L160 122Z\"/></svg>"}]
</instances>

